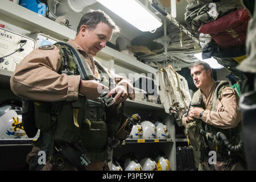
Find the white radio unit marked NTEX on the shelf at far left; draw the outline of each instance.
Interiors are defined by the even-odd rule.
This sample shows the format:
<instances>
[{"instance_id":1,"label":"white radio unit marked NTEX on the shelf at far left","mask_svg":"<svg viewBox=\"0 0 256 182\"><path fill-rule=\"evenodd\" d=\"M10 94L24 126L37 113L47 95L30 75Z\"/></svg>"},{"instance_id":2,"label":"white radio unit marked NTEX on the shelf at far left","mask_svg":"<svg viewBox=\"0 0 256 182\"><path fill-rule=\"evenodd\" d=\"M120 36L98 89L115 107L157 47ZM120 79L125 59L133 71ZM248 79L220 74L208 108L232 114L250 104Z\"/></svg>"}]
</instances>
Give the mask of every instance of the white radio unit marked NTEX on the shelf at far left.
<instances>
[{"instance_id":1,"label":"white radio unit marked NTEX on the shelf at far left","mask_svg":"<svg viewBox=\"0 0 256 182\"><path fill-rule=\"evenodd\" d=\"M35 40L0 27L0 69L14 71L35 48Z\"/></svg>"}]
</instances>

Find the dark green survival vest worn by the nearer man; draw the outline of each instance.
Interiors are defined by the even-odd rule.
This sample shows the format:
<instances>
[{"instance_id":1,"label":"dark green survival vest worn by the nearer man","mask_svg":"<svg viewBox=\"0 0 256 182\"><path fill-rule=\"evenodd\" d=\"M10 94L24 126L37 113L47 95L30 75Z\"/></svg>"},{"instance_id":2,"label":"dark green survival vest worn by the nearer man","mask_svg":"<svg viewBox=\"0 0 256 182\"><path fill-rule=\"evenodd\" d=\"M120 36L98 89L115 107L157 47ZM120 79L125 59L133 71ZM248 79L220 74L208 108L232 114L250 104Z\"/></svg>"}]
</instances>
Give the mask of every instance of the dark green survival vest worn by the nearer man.
<instances>
[{"instance_id":1,"label":"dark green survival vest worn by the nearer man","mask_svg":"<svg viewBox=\"0 0 256 182\"><path fill-rule=\"evenodd\" d=\"M56 43L62 58L59 73L81 75L82 80L93 80L93 73L84 57L65 44ZM82 60L86 75L77 67L77 56ZM95 60L100 82L114 88L112 76ZM79 95L77 101L35 102L35 125L51 134L55 143L79 143L91 162L108 160L108 137L113 138L122 121L122 105L106 107L101 98L88 100ZM50 152L51 156L51 152Z\"/></svg>"}]
</instances>

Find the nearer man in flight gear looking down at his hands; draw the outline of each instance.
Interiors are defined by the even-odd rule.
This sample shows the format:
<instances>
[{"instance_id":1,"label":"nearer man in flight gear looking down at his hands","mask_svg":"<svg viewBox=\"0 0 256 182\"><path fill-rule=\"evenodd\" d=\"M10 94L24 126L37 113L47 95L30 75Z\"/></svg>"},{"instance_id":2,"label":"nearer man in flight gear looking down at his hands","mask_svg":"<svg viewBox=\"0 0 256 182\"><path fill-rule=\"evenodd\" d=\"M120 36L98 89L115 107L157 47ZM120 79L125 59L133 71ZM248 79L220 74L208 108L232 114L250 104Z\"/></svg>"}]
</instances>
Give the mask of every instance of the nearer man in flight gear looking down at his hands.
<instances>
[{"instance_id":1,"label":"nearer man in flight gear looking down at his hands","mask_svg":"<svg viewBox=\"0 0 256 182\"><path fill-rule=\"evenodd\" d=\"M93 56L117 31L103 11L90 10L74 40L39 47L15 69L11 90L23 98L24 118L34 110L34 118L26 122L32 120L40 129L27 156L31 170L109 169L112 147L125 138L118 133L127 121L122 102L135 95L130 80L111 73ZM46 153L46 164L39 164L39 151Z\"/></svg>"}]
</instances>

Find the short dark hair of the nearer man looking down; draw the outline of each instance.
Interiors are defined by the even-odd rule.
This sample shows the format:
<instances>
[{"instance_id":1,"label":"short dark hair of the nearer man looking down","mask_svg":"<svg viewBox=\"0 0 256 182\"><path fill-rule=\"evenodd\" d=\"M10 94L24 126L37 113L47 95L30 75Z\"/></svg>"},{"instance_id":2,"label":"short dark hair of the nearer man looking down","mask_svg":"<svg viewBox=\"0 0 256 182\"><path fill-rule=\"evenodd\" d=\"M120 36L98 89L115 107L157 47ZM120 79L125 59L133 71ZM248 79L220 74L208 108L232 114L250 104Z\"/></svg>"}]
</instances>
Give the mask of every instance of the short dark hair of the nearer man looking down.
<instances>
[{"instance_id":1,"label":"short dark hair of the nearer man looking down","mask_svg":"<svg viewBox=\"0 0 256 182\"><path fill-rule=\"evenodd\" d=\"M113 28L113 32L119 32L119 27L113 22L113 20L101 10L89 10L80 19L79 26L77 26L76 35L79 34L80 28L85 24L89 29L96 28L98 23L106 23L110 28Z\"/></svg>"}]
</instances>

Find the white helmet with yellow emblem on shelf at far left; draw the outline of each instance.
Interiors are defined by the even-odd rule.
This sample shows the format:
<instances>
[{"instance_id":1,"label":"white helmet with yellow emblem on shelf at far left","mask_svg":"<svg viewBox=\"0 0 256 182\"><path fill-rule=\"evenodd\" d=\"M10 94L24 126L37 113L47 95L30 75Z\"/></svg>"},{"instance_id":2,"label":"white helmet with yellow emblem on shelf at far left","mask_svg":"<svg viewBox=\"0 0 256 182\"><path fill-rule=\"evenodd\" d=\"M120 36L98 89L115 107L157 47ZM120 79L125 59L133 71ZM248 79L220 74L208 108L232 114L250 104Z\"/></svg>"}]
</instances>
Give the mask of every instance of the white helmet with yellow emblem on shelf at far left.
<instances>
[{"instance_id":1,"label":"white helmet with yellow emblem on shelf at far left","mask_svg":"<svg viewBox=\"0 0 256 182\"><path fill-rule=\"evenodd\" d=\"M22 109L18 106L0 106L0 138L26 138L22 123Z\"/></svg>"}]
</instances>

